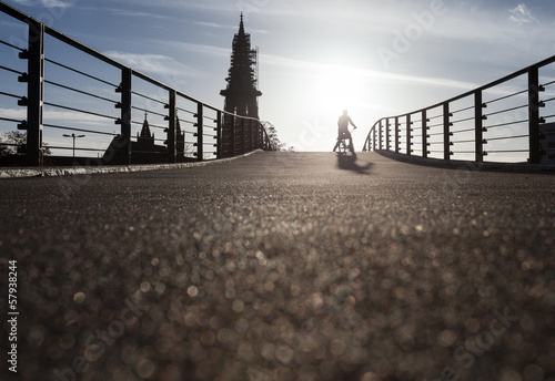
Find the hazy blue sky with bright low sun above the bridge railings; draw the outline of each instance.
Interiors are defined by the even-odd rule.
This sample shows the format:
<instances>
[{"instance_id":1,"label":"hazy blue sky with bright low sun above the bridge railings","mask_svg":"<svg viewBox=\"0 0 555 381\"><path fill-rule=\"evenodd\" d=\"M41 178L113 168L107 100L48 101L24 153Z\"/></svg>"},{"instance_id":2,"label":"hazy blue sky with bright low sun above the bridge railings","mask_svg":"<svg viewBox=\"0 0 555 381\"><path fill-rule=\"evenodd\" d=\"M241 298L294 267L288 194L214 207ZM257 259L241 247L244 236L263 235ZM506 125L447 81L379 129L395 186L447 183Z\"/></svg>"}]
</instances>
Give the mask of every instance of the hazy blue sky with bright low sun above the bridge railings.
<instances>
[{"instance_id":1,"label":"hazy blue sky with bright low sun above the bridge railings","mask_svg":"<svg viewBox=\"0 0 555 381\"><path fill-rule=\"evenodd\" d=\"M331 151L344 109L361 150L381 117L442 102L555 54L555 2L545 0L4 2L218 107L243 12L259 49L260 117L295 151ZM14 24L0 17L0 38L22 35ZM72 64L89 68L80 60L71 55ZM4 114L10 107L0 103Z\"/></svg>"}]
</instances>

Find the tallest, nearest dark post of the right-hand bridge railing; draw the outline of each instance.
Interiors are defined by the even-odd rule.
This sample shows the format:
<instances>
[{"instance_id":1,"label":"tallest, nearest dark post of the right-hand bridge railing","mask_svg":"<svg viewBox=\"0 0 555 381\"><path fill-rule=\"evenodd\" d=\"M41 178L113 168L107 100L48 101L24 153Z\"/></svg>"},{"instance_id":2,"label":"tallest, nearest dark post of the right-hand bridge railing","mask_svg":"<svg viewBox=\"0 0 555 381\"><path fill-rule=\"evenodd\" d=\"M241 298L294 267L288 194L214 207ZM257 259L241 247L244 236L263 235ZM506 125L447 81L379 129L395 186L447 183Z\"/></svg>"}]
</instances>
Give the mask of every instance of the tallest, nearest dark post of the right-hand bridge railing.
<instances>
[{"instance_id":1,"label":"tallest, nearest dark post of the right-hand bridge railing","mask_svg":"<svg viewBox=\"0 0 555 381\"><path fill-rule=\"evenodd\" d=\"M528 71L528 151L529 163L542 161L539 145L539 73L537 66Z\"/></svg>"}]
</instances>

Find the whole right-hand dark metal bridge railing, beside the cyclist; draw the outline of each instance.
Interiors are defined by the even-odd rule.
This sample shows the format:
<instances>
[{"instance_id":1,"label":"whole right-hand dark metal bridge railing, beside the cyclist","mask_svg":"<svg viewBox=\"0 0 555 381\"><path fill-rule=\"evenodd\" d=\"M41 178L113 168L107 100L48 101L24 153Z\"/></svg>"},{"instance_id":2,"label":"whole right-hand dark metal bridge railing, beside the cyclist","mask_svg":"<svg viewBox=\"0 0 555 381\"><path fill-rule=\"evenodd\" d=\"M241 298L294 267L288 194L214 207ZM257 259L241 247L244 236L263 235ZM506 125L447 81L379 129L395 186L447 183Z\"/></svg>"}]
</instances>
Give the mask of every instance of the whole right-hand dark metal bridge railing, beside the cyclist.
<instances>
[{"instance_id":1,"label":"whole right-hand dark metal bridge railing, beside the cyclist","mask_svg":"<svg viewBox=\"0 0 555 381\"><path fill-rule=\"evenodd\" d=\"M555 119L554 62L555 55L444 102L383 117L370 130L363 151L542 163L555 151L543 144Z\"/></svg>"}]
</instances>

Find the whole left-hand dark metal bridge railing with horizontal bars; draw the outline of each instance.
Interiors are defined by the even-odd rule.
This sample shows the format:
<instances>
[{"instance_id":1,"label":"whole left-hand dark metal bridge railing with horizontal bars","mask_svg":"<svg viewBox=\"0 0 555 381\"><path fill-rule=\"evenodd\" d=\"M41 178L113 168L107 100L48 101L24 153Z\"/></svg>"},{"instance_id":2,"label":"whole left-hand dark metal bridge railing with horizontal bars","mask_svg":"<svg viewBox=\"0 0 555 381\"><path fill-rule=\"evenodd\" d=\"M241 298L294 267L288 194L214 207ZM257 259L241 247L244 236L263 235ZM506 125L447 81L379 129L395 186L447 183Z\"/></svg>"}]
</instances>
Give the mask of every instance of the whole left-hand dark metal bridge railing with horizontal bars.
<instances>
[{"instance_id":1,"label":"whole left-hand dark metal bridge railing with horizontal bars","mask_svg":"<svg viewBox=\"0 0 555 381\"><path fill-rule=\"evenodd\" d=\"M27 132L24 144L18 146L27 165L42 165L46 150L95 153L103 164L203 161L272 150L258 119L203 103L3 2L0 12L28 29L26 39L0 37L0 50L17 53L10 59L0 51L0 75L9 79L0 79L0 97L12 99L24 110L22 117L14 117L0 109L0 122ZM71 64L73 56L78 56L79 68ZM147 115L151 135L144 138L140 131ZM114 125L119 125L118 133ZM77 134L87 136L82 141L89 143L80 140L75 147ZM71 143L62 138L70 136Z\"/></svg>"}]
</instances>

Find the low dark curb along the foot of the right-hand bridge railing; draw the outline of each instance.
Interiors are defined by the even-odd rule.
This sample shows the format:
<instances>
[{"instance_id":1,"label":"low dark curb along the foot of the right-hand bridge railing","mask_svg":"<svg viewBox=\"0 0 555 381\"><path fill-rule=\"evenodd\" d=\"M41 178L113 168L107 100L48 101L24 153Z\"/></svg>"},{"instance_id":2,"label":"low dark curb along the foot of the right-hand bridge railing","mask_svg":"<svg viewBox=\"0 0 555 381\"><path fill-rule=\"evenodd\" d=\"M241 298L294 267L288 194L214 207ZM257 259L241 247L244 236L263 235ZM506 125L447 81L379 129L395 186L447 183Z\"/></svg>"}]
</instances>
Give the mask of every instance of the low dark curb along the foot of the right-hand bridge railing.
<instances>
[{"instance_id":1,"label":"low dark curb along the foot of the right-hand bridge railing","mask_svg":"<svg viewBox=\"0 0 555 381\"><path fill-rule=\"evenodd\" d=\"M375 153L403 163L427 165L438 168L463 169L463 171L491 171L513 173L544 173L555 174L555 164L529 164L529 163L477 163L470 161L444 161L440 158L408 156L389 151L376 150Z\"/></svg>"}]
</instances>

